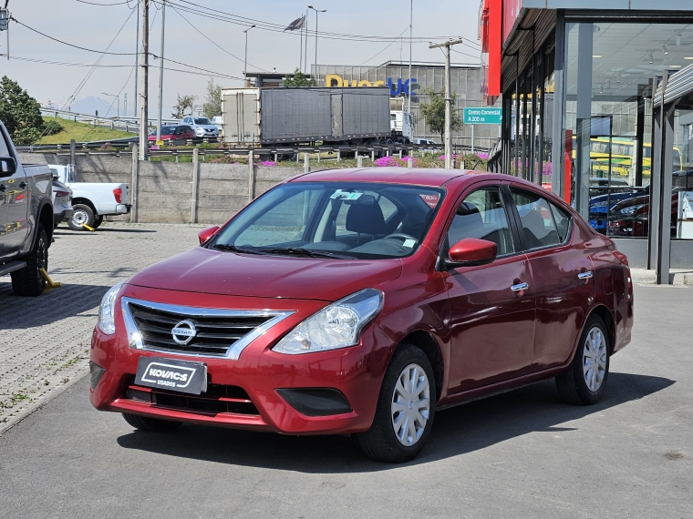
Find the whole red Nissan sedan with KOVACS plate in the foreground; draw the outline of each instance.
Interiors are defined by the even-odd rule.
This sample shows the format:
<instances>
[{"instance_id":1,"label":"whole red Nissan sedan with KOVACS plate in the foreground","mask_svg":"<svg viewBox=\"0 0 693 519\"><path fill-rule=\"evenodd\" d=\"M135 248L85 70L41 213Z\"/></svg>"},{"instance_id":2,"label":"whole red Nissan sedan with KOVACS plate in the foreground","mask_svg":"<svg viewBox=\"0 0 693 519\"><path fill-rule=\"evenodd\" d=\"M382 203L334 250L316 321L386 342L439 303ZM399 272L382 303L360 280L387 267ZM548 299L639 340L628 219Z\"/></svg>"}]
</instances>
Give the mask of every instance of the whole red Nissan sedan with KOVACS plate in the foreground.
<instances>
[{"instance_id":1,"label":"whole red Nissan sedan with KOVACS plate in the foreground","mask_svg":"<svg viewBox=\"0 0 693 519\"><path fill-rule=\"evenodd\" d=\"M90 400L140 430L355 433L403 462L437 408L549 377L597 402L630 341L626 256L518 178L309 173L200 241L100 305Z\"/></svg>"}]
</instances>

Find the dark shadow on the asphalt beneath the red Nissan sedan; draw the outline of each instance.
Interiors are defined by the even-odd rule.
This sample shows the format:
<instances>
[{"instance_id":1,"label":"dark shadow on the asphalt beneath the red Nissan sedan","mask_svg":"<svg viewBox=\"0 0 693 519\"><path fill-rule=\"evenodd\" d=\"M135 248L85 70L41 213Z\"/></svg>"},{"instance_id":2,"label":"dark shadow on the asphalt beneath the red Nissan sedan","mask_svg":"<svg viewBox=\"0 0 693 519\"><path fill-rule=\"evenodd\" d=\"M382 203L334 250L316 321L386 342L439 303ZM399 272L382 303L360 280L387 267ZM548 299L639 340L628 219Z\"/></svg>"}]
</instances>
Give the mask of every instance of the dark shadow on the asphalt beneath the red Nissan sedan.
<instances>
[{"instance_id":1,"label":"dark shadow on the asphalt beneath the red Nissan sedan","mask_svg":"<svg viewBox=\"0 0 693 519\"><path fill-rule=\"evenodd\" d=\"M604 399L592 406L564 404L553 380L460 405L436 414L426 448L405 465L479 451L530 432L570 433L576 428L561 424L639 400L674 383L611 373ZM368 460L355 436L284 436L185 424L166 434L131 432L120 436L118 443L149 453L302 473L364 473L402 466Z\"/></svg>"}]
</instances>

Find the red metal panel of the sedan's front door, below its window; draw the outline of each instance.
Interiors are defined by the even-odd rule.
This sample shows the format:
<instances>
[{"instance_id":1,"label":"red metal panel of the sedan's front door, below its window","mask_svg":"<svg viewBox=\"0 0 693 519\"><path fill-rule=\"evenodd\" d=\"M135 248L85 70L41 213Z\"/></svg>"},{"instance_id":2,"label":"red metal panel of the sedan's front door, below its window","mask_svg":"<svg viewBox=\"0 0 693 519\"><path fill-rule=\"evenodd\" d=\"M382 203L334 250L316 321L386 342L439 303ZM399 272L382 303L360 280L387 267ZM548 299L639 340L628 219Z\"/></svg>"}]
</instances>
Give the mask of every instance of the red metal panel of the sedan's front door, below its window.
<instances>
[{"instance_id":1,"label":"red metal panel of the sedan's front door, below its window","mask_svg":"<svg viewBox=\"0 0 693 519\"><path fill-rule=\"evenodd\" d=\"M450 393L502 382L529 371L533 359L534 300L523 256L451 270ZM529 290L511 286L527 282Z\"/></svg>"}]
</instances>

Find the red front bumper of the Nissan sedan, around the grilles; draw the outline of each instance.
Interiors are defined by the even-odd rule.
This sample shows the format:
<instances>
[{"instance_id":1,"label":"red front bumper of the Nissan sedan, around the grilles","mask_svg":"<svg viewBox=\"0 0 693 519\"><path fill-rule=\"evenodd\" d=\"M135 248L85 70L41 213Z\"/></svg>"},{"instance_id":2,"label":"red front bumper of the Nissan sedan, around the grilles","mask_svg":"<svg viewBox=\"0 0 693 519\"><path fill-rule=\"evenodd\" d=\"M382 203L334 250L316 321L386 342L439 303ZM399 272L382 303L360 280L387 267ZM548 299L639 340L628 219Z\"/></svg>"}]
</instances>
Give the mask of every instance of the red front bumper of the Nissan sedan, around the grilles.
<instances>
[{"instance_id":1,"label":"red front bumper of the Nissan sedan, around the grilles","mask_svg":"<svg viewBox=\"0 0 693 519\"><path fill-rule=\"evenodd\" d=\"M139 299L179 304L191 294L137 288ZM145 296L145 297L143 297ZM167 300L161 300L166 297ZM210 308L243 308L257 310L267 307L263 298L235 298L204 295L204 305ZM298 303L298 305L297 305ZM242 306L241 306L242 305ZM299 308L297 308L300 307ZM145 416L220 425L286 434L334 434L367 431L375 415L380 385L387 368L388 354L394 348L388 337L374 323L362 333L361 344L335 351L304 355L284 355L271 351L271 346L309 315L326 306L325 301L272 300L273 310L297 310L296 313L243 350L237 361L169 355L172 359L203 361L207 364L207 393L181 395L134 384L141 356L167 357L166 352L129 348L122 316L116 314L116 334L105 335L95 328L91 342L90 361L104 368L96 387L89 390L90 402L101 411L130 412ZM391 351L391 350L390 350ZM383 361L384 360L384 361ZM230 388L230 389L223 389ZM346 398L350 412L315 416L299 412L280 394L286 389L329 388ZM247 398L219 398L241 390ZM148 396L156 393L162 396ZM213 393L213 394L212 394ZM284 395L286 393L284 392ZM133 398L133 395L136 395ZM216 395L216 396L215 396ZM176 396L180 397L176 400ZM211 400L205 400L211 399ZM173 402L173 404L171 404ZM176 403L179 402L179 403ZM239 405L240 402L240 405ZM223 406L227 405L227 408ZM220 406L222 407L220 411ZM245 406L245 407L243 407ZM300 405L296 407L301 408Z\"/></svg>"}]
</instances>

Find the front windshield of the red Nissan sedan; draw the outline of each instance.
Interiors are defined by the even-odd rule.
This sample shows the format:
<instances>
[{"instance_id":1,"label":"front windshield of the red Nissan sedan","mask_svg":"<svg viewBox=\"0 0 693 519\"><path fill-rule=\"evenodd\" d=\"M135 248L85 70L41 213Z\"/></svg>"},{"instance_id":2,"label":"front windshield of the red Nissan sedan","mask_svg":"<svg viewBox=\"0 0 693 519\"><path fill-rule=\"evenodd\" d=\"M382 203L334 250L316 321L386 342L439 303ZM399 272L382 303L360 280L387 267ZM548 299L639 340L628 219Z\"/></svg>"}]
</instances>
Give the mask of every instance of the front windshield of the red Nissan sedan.
<instances>
[{"instance_id":1,"label":"front windshield of the red Nissan sedan","mask_svg":"<svg viewBox=\"0 0 693 519\"><path fill-rule=\"evenodd\" d=\"M442 189L396 184L283 184L243 209L208 247L295 256L401 258L419 247L443 196Z\"/></svg>"}]
</instances>

